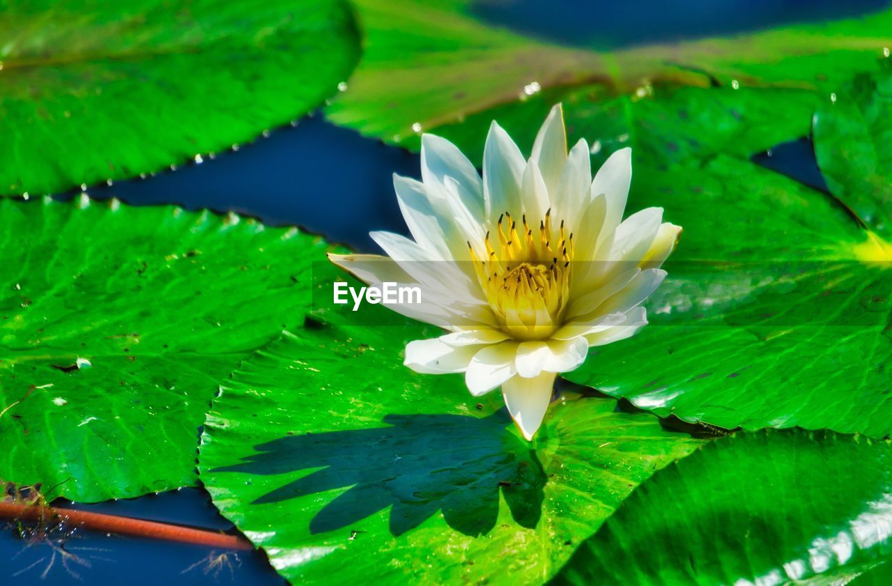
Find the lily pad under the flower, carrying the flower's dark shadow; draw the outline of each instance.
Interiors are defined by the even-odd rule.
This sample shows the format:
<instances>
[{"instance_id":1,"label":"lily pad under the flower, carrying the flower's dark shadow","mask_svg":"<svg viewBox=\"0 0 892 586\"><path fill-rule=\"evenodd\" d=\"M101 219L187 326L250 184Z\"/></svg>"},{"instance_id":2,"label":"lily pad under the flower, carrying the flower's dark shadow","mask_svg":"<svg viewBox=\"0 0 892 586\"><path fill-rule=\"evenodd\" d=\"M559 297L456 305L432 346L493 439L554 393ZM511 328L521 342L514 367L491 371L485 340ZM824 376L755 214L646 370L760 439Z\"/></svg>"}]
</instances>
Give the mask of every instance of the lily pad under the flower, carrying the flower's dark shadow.
<instances>
[{"instance_id":1,"label":"lily pad under the flower, carrying the flower's dark shadow","mask_svg":"<svg viewBox=\"0 0 892 586\"><path fill-rule=\"evenodd\" d=\"M292 582L541 582L702 442L579 392L524 442L498 393L403 367L404 343L435 332L385 315L284 334L207 418L202 483Z\"/></svg>"}]
</instances>

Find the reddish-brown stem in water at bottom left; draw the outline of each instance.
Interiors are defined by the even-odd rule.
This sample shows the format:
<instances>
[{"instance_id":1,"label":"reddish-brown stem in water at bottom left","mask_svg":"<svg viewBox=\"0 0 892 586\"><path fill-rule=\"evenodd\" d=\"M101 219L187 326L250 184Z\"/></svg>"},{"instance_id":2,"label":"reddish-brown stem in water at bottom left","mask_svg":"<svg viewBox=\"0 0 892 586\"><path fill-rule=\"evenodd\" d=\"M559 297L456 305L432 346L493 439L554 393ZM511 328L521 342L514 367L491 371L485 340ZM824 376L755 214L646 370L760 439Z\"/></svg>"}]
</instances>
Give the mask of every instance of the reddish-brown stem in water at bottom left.
<instances>
[{"instance_id":1,"label":"reddish-brown stem in water at bottom left","mask_svg":"<svg viewBox=\"0 0 892 586\"><path fill-rule=\"evenodd\" d=\"M250 541L238 535L228 535L182 525L145 521L126 516L89 513L71 508L42 507L37 504L0 501L0 518L26 521L64 521L93 531L134 535L180 543L194 543L219 549L253 549Z\"/></svg>"}]
</instances>

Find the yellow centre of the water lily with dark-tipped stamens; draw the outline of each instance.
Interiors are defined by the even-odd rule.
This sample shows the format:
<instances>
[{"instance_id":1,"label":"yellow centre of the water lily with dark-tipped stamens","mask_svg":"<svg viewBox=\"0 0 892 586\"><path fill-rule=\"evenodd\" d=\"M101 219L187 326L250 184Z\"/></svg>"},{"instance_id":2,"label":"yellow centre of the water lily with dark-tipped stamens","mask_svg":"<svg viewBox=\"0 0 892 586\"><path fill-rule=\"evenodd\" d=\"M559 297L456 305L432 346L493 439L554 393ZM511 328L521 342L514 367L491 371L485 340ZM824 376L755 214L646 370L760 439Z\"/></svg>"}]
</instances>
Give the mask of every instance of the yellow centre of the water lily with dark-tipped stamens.
<instances>
[{"instance_id":1,"label":"yellow centre of the water lily with dark-tipped stamens","mask_svg":"<svg viewBox=\"0 0 892 586\"><path fill-rule=\"evenodd\" d=\"M507 211L496 234L486 233L486 258L471 258L486 301L500 319L501 329L517 340L548 338L560 325L570 288L573 235L564 222L552 230L551 210L539 227L518 226Z\"/></svg>"}]
</instances>

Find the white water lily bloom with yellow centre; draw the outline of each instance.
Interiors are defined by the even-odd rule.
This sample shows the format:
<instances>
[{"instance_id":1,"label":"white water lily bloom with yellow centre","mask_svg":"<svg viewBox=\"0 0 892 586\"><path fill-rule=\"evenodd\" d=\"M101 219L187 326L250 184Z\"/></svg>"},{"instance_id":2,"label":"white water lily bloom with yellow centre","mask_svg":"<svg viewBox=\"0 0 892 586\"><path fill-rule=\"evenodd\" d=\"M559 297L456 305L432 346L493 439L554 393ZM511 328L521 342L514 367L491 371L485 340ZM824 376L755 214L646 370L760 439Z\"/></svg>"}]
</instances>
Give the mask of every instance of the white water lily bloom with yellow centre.
<instances>
[{"instance_id":1,"label":"white water lily bloom with yellow centre","mask_svg":"<svg viewBox=\"0 0 892 586\"><path fill-rule=\"evenodd\" d=\"M422 136L422 181L394 176L414 238L371 237L387 257L331 255L369 285L417 286L420 304L390 305L447 330L406 347L420 373L465 373L475 396L501 387L527 440L539 429L555 377L579 367L591 346L647 324L641 303L663 281L681 227L648 208L623 221L631 150L591 178L589 146L567 153L555 106L529 160L492 123L483 178L449 141Z\"/></svg>"}]
</instances>

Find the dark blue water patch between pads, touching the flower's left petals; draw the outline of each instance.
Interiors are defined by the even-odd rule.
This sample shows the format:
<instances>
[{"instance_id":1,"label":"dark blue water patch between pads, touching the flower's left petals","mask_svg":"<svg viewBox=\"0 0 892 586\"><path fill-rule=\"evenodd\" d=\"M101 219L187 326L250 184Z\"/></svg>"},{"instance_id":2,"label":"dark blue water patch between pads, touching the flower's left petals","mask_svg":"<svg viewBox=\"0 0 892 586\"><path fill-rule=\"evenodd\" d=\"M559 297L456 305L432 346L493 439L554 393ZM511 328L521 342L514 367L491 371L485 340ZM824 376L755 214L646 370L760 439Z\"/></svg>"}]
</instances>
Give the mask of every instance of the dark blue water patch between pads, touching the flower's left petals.
<instances>
[{"instance_id":1,"label":"dark blue water patch between pads, touching the flower's left petals","mask_svg":"<svg viewBox=\"0 0 892 586\"><path fill-rule=\"evenodd\" d=\"M393 173L420 177L418 155L314 116L240 145L237 152L87 193L136 204L235 210L371 250L369 230L405 230Z\"/></svg>"}]
</instances>

